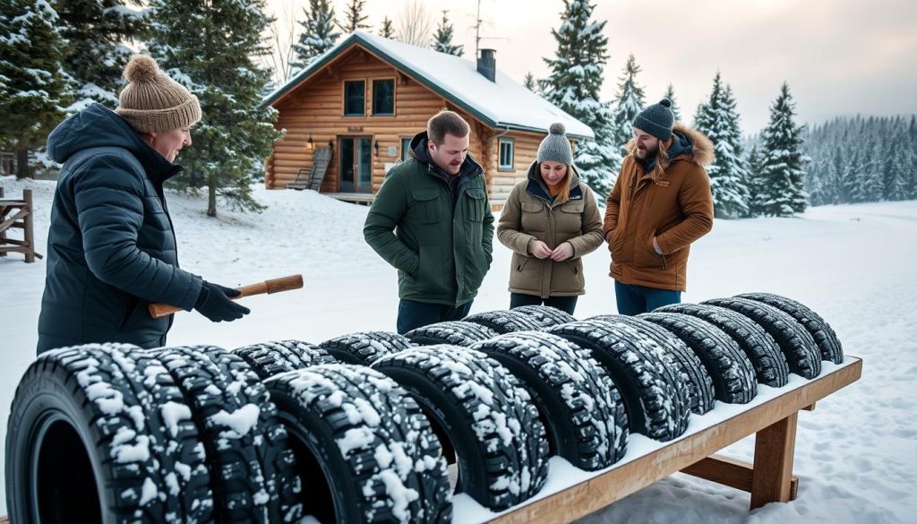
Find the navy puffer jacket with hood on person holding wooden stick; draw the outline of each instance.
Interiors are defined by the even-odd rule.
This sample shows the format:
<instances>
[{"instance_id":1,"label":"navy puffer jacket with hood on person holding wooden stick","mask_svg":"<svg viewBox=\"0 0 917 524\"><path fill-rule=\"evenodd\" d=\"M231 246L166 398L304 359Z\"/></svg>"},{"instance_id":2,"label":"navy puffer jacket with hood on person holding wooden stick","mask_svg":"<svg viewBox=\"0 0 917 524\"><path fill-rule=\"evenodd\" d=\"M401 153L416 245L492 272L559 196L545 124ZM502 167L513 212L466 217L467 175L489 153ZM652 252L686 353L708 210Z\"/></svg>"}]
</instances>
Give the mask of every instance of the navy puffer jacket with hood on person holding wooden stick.
<instances>
[{"instance_id":1,"label":"navy puffer jacket with hood on person holding wooden stick","mask_svg":"<svg viewBox=\"0 0 917 524\"><path fill-rule=\"evenodd\" d=\"M162 184L181 172L114 112L94 104L51 132L63 163L51 208L38 352L89 342L165 344L171 315L190 310L201 279L178 267Z\"/></svg>"}]
</instances>

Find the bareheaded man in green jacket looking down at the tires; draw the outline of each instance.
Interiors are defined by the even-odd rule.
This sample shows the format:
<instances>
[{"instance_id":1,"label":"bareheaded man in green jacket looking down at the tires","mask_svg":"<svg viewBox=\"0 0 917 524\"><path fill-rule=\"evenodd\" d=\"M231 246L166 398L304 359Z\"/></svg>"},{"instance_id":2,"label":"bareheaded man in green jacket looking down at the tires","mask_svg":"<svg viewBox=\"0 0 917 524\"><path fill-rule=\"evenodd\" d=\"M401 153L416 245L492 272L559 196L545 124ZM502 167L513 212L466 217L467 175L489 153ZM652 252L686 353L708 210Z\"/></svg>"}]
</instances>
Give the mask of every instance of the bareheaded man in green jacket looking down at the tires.
<instances>
[{"instance_id":1,"label":"bareheaded man in green jacket looking down at the tires","mask_svg":"<svg viewBox=\"0 0 917 524\"><path fill-rule=\"evenodd\" d=\"M491 267L493 215L470 132L452 111L430 118L366 217L366 242L398 270L399 333L465 318Z\"/></svg>"}]
</instances>

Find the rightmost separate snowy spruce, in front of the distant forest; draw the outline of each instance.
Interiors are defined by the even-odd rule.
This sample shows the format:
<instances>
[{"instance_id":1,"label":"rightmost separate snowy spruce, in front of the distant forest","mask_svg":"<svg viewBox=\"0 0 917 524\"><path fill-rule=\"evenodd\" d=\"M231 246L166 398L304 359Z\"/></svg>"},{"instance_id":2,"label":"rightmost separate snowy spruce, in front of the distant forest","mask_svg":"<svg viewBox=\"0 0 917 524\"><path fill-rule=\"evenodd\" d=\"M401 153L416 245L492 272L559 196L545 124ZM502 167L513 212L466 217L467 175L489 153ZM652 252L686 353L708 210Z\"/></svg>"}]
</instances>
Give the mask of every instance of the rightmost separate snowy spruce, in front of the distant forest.
<instances>
[{"instance_id":1,"label":"rightmost separate snowy spruce, in front of the distant forest","mask_svg":"<svg viewBox=\"0 0 917 524\"><path fill-rule=\"evenodd\" d=\"M789 217L805 211L802 180L808 159L802 154L804 127L793 120L794 106L790 86L784 82L770 106L768 127L761 133L763 191L757 195L756 206L765 215Z\"/></svg>"}]
</instances>

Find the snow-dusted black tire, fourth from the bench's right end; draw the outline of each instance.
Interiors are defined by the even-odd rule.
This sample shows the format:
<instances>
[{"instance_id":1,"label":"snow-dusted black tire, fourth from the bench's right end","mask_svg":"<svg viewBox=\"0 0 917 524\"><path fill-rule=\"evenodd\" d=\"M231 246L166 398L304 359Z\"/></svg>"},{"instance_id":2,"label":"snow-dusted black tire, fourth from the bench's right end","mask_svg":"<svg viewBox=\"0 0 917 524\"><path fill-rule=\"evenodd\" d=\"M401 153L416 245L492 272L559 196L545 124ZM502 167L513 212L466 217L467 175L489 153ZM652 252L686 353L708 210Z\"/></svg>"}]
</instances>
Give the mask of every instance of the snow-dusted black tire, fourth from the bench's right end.
<instances>
[{"instance_id":1,"label":"snow-dusted black tire, fourth from the bench's right end","mask_svg":"<svg viewBox=\"0 0 917 524\"><path fill-rule=\"evenodd\" d=\"M723 329L681 313L645 313L638 318L668 329L688 344L713 378L717 400L747 404L757 395L755 367Z\"/></svg>"}]
</instances>

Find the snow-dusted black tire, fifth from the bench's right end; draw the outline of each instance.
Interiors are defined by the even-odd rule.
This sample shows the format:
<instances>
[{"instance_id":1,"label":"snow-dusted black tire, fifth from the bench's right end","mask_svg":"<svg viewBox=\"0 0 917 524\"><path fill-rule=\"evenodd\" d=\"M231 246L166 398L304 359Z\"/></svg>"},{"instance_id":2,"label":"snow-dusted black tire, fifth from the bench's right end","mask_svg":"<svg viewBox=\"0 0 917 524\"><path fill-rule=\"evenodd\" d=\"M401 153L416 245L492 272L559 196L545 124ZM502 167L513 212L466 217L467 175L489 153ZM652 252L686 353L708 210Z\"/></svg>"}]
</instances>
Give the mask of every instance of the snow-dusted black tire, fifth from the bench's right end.
<instances>
[{"instance_id":1,"label":"snow-dusted black tire, fifth from the bench's right end","mask_svg":"<svg viewBox=\"0 0 917 524\"><path fill-rule=\"evenodd\" d=\"M640 336L655 341L659 347L671 354L679 373L688 382L691 412L703 415L713 409L713 405L716 404L713 377L704 367L700 357L671 331L652 322L625 315L599 315L589 319L613 324L625 324L636 329Z\"/></svg>"}]
</instances>

